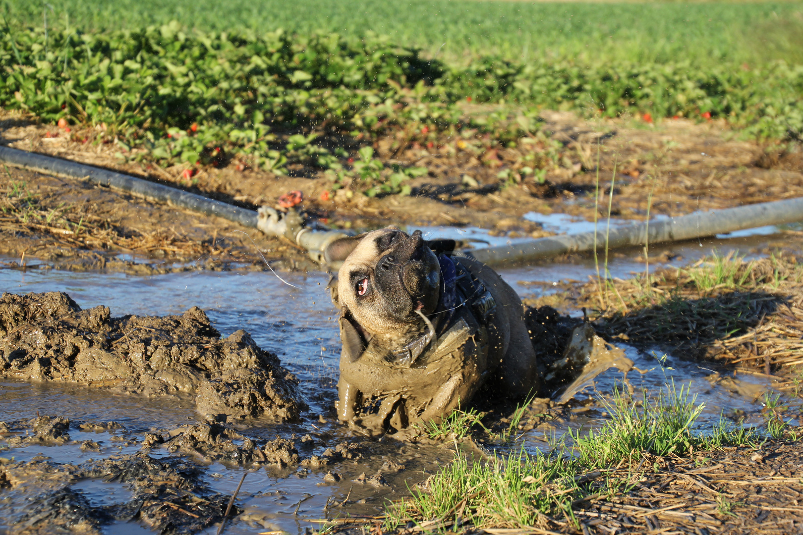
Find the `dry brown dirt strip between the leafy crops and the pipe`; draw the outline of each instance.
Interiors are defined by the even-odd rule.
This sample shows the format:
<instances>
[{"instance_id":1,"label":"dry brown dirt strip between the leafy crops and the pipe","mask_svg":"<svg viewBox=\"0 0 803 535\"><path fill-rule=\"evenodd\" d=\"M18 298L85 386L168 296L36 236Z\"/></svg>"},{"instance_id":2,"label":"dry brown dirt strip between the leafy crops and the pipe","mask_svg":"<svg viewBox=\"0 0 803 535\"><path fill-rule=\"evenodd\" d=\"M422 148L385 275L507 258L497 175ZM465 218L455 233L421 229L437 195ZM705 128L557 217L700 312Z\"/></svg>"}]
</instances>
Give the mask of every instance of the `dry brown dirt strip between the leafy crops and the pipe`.
<instances>
[{"instance_id":1,"label":"dry brown dirt strip between the leafy crops and the pipe","mask_svg":"<svg viewBox=\"0 0 803 535\"><path fill-rule=\"evenodd\" d=\"M479 116L501 109L467 106L465 111ZM445 138L426 148L398 132L374 146L386 163L428 168L427 176L410 182L414 196L369 199L357 194L349 199L341 190L330 201L321 201L320 194L331 190L332 182L313 168L299 166L292 171L296 176L275 176L253 169L238 171L231 163L226 168L202 169L183 180L183 167L162 169L137 162L135 156L143 155L124 154L114 140L101 142L104 135L98 129L65 134L12 112L0 119L0 143L16 148L119 169L251 208L272 205L279 195L300 189L305 195L304 209L312 216L356 229L388 223L471 224L499 233L543 235L539 225L520 216L536 211L593 217L597 143L602 191L609 190L613 168L617 168L612 213L618 217L645 217L650 193L650 212L669 215L803 196L801 148L740 141L725 124L711 121L645 124L626 119L580 120L569 112L544 111L541 132L546 136L537 134L532 143L522 142L515 148L487 148L477 137ZM549 153L546 184L524 180L499 188L500 171L522 168L531 156L544 160ZM478 185L464 185L465 176ZM607 215L607 205L603 194L600 215Z\"/></svg>"}]
</instances>

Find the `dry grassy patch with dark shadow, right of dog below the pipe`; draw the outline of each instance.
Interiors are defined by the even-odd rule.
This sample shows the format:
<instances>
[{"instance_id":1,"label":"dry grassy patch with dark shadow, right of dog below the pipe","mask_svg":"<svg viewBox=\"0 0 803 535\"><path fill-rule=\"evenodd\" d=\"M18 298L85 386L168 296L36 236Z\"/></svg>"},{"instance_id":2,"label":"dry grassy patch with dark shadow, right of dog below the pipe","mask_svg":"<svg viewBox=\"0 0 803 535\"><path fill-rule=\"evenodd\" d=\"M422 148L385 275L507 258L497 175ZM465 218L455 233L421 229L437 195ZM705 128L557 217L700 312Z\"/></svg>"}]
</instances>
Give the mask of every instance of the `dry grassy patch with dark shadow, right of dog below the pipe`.
<instances>
[{"instance_id":1,"label":"dry grassy patch with dark shadow, right of dog below the pipe","mask_svg":"<svg viewBox=\"0 0 803 535\"><path fill-rule=\"evenodd\" d=\"M600 298L600 287L590 282L578 298L586 306L605 302L595 328L606 336L626 335L638 347L692 358L755 364L767 374L803 363L797 334L803 310L795 305L803 265L796 256L744 261L715 254L686 269L613 279L609 286Z\"/></svg>"}]
</instances>

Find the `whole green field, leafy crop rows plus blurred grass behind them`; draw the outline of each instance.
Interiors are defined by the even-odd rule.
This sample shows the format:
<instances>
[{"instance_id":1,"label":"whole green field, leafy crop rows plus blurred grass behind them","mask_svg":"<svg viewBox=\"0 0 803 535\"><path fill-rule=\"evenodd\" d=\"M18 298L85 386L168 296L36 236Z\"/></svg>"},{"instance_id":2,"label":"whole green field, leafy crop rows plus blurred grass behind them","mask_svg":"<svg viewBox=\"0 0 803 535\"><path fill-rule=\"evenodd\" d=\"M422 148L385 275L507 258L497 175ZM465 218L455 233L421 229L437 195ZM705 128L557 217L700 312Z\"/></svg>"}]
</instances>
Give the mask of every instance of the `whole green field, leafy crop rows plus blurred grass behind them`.
<instances>
[{"instance_id":1,"label":"whole green field, leafy crop rows plus blurred grass behind them","mask_svg":"<svg viewBox=\"0 0 803 535\"><path fill-rule=\"evenodd\" d=\"M510 144L536 132L544 109L803 136L801 2L4 5L0 104L102 126L163 165L301 163L327 169L334 187L403 193L419 170L368 152L346 165L357 155L321 140ZM507 111L467 117L466 101Z\"/></svg>"}]
</instances>

